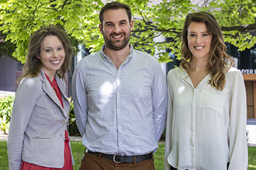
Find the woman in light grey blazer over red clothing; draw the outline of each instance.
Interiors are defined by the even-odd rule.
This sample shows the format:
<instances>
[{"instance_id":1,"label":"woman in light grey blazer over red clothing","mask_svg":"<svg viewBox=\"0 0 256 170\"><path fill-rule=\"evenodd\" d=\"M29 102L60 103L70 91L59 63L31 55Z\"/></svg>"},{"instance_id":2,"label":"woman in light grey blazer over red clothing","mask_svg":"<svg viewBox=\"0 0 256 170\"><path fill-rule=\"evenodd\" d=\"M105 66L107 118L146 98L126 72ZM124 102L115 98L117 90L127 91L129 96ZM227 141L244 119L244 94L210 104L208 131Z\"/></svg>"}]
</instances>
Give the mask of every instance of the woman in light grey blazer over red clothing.
<instances>
[{"instance_id":1,"label":"woman in light grey blazer over red clothing","mask_svg":"<svg viewBox=\"0 0 256 170\"><path fill-rule=\"evenodd\" d=\"M31 36L9 127L10 170L73 169L63 80L72 56L70 40L55 26Z\"/></svg>"}]
</instances>

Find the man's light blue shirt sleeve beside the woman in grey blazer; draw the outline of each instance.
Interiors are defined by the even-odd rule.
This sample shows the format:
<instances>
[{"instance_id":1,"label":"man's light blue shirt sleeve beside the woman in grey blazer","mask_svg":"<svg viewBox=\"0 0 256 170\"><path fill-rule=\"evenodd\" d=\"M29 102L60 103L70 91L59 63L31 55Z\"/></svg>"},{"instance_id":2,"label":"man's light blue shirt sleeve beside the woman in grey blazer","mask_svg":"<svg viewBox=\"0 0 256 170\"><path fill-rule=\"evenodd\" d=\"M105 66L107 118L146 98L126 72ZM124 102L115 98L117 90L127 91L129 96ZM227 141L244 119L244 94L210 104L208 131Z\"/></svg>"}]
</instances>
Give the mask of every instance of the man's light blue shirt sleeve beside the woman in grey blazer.
<instances>
[{"instance_id":1,"label":"man's light blue shirt sleeve beside the woman in grey blazer","mask_svg":"<svg viewBox=\"0 0 256 170\"><path fill-rule=\"evenodd\" d=\"M72 79L72 98L74 103L74 115L78 130L83 136L85 134L85 125L87 121L88 103L87 93L85 91L85 80L78 70L79 65L74 70Z\"/></svg>"}]
</instances>

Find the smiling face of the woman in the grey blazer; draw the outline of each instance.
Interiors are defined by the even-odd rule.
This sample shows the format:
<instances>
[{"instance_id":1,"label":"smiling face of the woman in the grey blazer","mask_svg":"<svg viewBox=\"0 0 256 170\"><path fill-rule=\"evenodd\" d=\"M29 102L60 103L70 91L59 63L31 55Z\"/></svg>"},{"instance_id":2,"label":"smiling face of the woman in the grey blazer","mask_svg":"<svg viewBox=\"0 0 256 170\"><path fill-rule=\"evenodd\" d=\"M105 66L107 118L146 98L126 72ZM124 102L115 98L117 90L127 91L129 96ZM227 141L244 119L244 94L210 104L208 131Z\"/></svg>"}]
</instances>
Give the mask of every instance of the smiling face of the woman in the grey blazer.
<instances>
[{"instance_id":1,"label":"smiling face of the woman in the grey blazer","mask_svg":"<svg viewBox=\"0 0 256 170\"><path fill-rule=\"evenodd\" d=\"M65 59L65 50L61 40L57 36L46 36L40 47L40 56L36 57L42 63L43 72L53 78Z\"/></svg>"}]
</instances>

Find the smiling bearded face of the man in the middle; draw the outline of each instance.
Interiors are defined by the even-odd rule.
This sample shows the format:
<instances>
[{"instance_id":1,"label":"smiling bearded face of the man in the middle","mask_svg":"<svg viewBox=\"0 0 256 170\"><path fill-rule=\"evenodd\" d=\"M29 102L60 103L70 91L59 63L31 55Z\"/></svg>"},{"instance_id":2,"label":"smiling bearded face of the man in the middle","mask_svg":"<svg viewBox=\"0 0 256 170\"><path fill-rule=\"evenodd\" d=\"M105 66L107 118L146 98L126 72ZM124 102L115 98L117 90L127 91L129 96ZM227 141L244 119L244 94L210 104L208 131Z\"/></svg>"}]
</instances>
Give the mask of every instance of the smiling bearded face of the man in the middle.
<instances>
[{"instance_id":1,"label":"smiling bearded face of the man in the middle","mask_svg":"<svg viewBox=\"0 0 256 170\"><path fill-rule=\"evenodd\" d=\"M107 10L103 13L99 29L104 36L106 48L121 50L128 46L133 21L129 23L127 12L123 8Z\"/></svg>"}]
</instances>

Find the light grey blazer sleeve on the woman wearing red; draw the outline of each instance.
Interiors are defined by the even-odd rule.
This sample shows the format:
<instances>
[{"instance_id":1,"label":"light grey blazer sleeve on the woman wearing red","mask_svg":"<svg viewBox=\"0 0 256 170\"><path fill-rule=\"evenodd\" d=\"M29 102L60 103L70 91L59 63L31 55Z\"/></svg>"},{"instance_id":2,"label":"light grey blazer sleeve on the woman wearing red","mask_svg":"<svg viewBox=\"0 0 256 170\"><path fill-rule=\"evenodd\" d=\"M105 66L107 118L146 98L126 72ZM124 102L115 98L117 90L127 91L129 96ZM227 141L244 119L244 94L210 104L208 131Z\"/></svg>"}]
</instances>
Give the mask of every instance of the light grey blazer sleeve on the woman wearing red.
<instances>
[{"instance_id":1,"label":"light grey blazer sleeve on the woman wearing red","mask_svg":"<svg viewBox=\"0 0 256 170\"><path fill-rule=\"evenodd\" d=\"M10 170L20 169L24 134L36 100L42 93L41 84L38 78L23 79L16 91L7 139Z\"/></svg>"}]
</instances>

